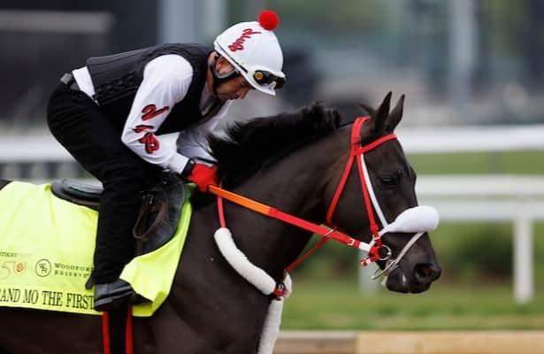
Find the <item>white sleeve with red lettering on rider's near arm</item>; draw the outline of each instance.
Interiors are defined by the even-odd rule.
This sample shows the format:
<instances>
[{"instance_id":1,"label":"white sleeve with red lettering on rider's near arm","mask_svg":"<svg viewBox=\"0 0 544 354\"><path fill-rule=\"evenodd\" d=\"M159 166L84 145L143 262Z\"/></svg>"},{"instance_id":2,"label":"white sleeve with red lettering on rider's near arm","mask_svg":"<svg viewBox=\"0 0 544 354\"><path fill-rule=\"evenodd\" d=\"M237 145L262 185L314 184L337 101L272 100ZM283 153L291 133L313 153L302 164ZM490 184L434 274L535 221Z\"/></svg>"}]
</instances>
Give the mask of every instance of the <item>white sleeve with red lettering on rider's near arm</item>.
<instances>
[{"instance_id":1,"label":"white sleeve with red lettering on rider's near arm","mask_svg":"<svg viewBox=\"0 0 544 354\"><path fill-rule=\"evenodd\" d=\"M188 92L193 67L185 58L168 54L146 65L143 80L134 102L121 141L145 161L181 173L188 158L177 153L155 133Z\"/></svg>"}]
</instances>

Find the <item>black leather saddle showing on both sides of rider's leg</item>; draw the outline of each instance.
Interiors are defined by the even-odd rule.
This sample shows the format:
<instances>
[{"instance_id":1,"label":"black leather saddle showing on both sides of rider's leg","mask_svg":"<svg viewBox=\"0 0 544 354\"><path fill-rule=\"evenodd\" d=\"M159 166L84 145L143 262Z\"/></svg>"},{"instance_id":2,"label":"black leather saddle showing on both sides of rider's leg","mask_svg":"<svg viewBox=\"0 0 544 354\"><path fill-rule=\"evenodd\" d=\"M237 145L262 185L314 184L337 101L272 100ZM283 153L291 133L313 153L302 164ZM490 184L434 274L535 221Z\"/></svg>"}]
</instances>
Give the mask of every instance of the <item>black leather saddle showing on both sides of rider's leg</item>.
<instances>
[{"instance_id":1,"label":"black leather saddle showing on both sides of rider's leg","mask_svg":"<svg viewBox=\"0 0 544 354\"><path fill-rule=\"evenodd\" d=\"M51 183L51 192L70 203L98 210L102 187L62 179ZM157 250L170 241L180 221L185 186L174 173L163 173L151 189L142 191L140 212L133 227L136 255Z\"/></svg>"}]
</instances>

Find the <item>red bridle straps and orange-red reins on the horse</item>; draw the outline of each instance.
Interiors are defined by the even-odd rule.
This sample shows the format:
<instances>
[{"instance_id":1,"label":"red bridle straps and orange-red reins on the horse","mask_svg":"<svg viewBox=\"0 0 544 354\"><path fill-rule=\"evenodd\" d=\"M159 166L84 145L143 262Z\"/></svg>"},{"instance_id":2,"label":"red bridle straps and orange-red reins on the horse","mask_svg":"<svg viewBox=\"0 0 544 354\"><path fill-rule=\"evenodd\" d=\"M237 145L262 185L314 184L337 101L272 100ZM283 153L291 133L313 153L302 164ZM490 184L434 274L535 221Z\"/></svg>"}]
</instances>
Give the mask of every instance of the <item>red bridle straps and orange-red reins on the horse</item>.
<instances>
[{"instance_id":1,"label":"red bridle straps and orange-red reins on the horse","mask_svg":"<svg viewBox=\"0 0 544 354\"><path fill-rule=\"evenodd\" d=\"M225 198L233 202L234 204L239 204L254 212L259 212L263 215L269 216L274 219L280 219L290 225L301 227L305 230L311 231L314 234L321 235L323 238L308 252L306 252L303 256L301 256L301 258L296 259L295 262L293 262L290 266L288 266L286 269L287 272L291 272L293 269L295 269L296 266L301 264L304 259L308 258L310 254L313 253L313 251L317 250L319 247L321 247L321 245L323 245L329 239L333 239L338 242L344 243L350 247L356 248L357 250L367 251L368 257L365 258L361 262L362 266L367 266L371 262L375 262L379 260L379 250L382 247L382 242L381 242L381 236L379 235L379 227L374 217L374 208L372 206L371 197L369 194L369 186L371 186L370 181L366 181L364 177L362 156L364 152L367 152L376 148L383 142L387 142L389 140L395 139L396 135L395 134L385 135L375 140L374 142L361 146L361 127L363 127L364 122L367 121L368 119L369 117L358 117L355 123L353 124L352 130L351 130L351 139L349 143L350 152L349 152L348 162L346 163L346 167L344 168L344 172L341 176L341 181L339 182L339 185L336 188L336 191L333 196L333 200L331 201L331 204L326 213L326 225L328 227L323 227L317 224L313 224L310 221L297 218L293 215L287 214L286 212L281 212L278 209L272 208L265 204L261 204L245 196L234 194L233 192L227 191L225 189L221 189L216 186L209 186L209 191L212 194L215 194L216 196L218 196L218 214L219 214L219 221L220 221L221 227L226 227L225 216L223 212L223 198ZM334 213L334 210L336 209L336 206L338 205L338 202L341 198L341 194L346 186L346 182L348 181L349 173L351 171L351 168L353 166L353 161L355 160L355 158L357 158L357 171L359 174L359 180L361 181L361 188L363 189L364 205L366 208L366 212L368 214L368 219L370 222L370 228L372 232L372 242L370 243L356 240L355 238L350 237L349 235L345 235L337 231L336 228L333 227L334 225L333 213Z\"/></svg>"}]
</instances>

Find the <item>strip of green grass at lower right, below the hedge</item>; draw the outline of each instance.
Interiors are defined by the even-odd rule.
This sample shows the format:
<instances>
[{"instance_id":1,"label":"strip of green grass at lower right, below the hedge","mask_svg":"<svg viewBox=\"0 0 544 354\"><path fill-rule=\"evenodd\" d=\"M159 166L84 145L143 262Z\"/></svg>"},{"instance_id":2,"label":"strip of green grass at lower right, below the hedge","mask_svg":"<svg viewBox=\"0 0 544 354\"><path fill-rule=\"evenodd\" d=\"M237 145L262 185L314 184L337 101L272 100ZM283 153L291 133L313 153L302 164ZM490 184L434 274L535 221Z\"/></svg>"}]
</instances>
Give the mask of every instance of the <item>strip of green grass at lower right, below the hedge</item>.
<instances>
[{"instance_id":1,"label":"strip of green grass at lower right, below the hedge","mask_svg":"<svg viewBox=\"0 0 544 354\"><path fill-rule=\"evenodd\" d=\"M544 329L544 296L515 304L510 284L433 284L421 294L380 289L361 294L355 281L294 280L284 330Z\"/></svg>"}]
</instances>

